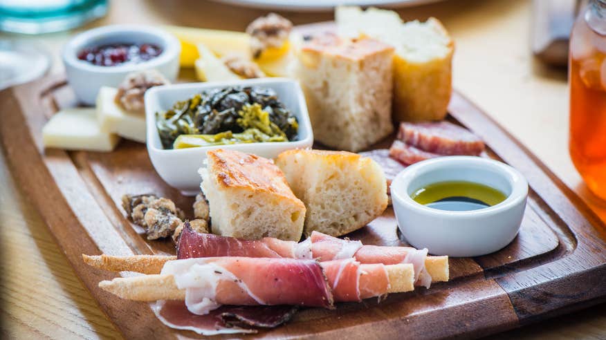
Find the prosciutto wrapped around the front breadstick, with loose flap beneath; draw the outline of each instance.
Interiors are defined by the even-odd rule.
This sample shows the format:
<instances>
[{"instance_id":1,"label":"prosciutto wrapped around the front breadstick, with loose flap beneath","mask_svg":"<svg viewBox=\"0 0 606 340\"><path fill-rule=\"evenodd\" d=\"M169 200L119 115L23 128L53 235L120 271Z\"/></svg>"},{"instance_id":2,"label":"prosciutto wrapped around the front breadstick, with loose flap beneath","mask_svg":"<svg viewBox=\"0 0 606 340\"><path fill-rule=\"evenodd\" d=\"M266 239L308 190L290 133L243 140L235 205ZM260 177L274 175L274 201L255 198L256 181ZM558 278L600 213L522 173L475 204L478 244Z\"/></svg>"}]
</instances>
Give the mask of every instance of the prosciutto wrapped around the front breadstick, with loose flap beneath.
<instances>
[{"instance_id":1,"label":"prosciutto wrapped around the front breadstick, with loose flap beneath","mask_svg":"<svg viewBox=\"0 0 606 340\"><path fill-rule=\"evenodd\" d=\"M171 328L207 336L256 332L253 326L275 327L296 312L297 307L288 304L331 308L333 299L361 301L385 296L390 289L385 265L360 264L353 258L323 263L188 258L168 261L161 274L172 275L178 289L185 289L185 303L156 301L152 303L156 317Z\"/></svg>"}]
</instances>

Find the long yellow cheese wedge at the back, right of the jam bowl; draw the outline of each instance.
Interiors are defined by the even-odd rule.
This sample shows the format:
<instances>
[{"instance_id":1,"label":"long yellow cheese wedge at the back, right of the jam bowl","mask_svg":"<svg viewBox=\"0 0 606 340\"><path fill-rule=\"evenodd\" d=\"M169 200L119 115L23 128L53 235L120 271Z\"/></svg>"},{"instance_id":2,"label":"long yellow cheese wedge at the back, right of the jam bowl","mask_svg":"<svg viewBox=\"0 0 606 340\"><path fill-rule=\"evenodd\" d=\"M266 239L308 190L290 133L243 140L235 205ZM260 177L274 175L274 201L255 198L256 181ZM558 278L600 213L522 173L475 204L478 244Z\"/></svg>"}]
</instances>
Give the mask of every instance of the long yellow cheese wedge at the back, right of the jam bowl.
<instances>
[{"instance_id":1,"label":"long yellow cheese wedge at the back, right of the jam bowl","mask_svg":"<svg viewBox=\"0 0 606 340\"><path fill-rule=\"evenodd\" d=\"M244 32L180 26L165 26L164 28L179 40L187 41L190 44L204 44L219 56L238 53L250 57L250 36Z\"/></svg>"}]
</instances>

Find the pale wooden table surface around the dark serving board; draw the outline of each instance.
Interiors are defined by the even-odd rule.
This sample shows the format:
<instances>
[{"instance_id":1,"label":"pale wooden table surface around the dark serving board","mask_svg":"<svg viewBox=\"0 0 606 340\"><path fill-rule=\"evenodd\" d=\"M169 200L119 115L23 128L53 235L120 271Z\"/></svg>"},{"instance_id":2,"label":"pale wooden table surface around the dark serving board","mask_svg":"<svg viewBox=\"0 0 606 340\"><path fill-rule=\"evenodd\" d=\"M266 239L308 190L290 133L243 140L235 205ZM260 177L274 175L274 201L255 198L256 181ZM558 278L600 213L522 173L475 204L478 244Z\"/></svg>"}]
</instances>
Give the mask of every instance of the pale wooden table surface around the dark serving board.
<instances>
[{"instance_id":1,"label":"pale wooden table surface around the dark serving board","mask_svg":"<svg viewBox=\"0 0 606 340\"><path fill-rule=\"evenodd\" d=\"M87 28L108 23L170 23L244 30L264 12L202 0L113 1L109 15ZM443 21L456 41L455 88L513 133L606 220L606 202L589 193L567 151L566 72L539 64L529 52L530 1L450 0L398 12L407 19L434 16ZM331 13L282 15L295 24L332 18ZM59 50L70 35L0 34L0 39L46 47L53 55L50 72L57 73L62 72ZM37 212L15 187L1 154L0 252L0 337L121 338L75 276ZM606 339L604 310L606 305L598 305L494 338Z\"/></svg>"}]
</instances>

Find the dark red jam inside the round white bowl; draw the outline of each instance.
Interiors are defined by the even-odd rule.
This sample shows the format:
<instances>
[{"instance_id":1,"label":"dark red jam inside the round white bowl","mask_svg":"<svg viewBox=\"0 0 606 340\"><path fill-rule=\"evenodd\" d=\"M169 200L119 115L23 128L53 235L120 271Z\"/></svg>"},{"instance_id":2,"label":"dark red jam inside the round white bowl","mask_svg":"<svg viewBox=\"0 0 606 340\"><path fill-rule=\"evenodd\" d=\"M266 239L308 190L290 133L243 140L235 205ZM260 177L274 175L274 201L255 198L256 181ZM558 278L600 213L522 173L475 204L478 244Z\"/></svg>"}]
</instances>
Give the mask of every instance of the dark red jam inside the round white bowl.
<instances>
[{"instance_id":1,"label":"dark red jam inside the round white bowl","mask_svg":"<svg viewBox=\"0 0 606 340\"><path fill-rule=\"evenodd\" d=\"M78 53L78 59L97 66L117 66L147 62L160 53L162 48L153 44L111 44L84 48Z\"/></svg>"}]
</instances>

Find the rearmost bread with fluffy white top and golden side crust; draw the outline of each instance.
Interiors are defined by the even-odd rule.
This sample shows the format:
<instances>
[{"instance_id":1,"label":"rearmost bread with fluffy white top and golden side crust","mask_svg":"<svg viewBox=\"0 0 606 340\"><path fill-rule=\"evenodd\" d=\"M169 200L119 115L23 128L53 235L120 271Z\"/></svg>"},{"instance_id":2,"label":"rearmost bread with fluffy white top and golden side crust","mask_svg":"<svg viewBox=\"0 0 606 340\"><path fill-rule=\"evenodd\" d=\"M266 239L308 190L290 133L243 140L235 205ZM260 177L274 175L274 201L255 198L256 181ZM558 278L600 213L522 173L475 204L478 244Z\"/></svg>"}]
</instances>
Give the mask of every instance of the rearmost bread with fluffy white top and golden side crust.
<instances>
[{"instance_id":1,"label":"rearmost bread with fluffy white top and golden side crust","mask_svg":"<svg viewBox=\"0 0 606 340\"><path fill-rule=\"evenodd\" d=\"M372 37L396 48L394 55L394 119L441 120L452 92L450 35L441 22L404 22L396 12L359 7L339 7L339 35Z\"/></svg>"}]
</instances>

